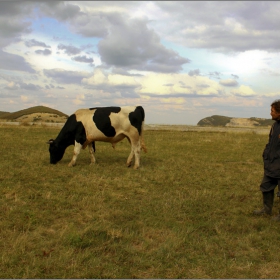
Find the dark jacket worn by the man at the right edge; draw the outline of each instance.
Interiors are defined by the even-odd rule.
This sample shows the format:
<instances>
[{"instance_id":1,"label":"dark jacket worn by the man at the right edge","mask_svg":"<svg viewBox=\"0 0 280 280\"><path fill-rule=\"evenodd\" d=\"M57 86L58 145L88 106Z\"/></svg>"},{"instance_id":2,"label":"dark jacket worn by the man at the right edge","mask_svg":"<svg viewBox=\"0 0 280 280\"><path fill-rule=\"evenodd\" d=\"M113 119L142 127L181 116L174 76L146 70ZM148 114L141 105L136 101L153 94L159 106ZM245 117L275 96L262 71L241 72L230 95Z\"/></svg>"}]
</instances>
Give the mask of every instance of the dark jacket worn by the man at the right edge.
<instances>
[{"instance_id":1,"label":"dark jacket worn by the man at the right edge","mask_svg":"<svg viewBox=\"0 0 280 280\"><path fill-rule=\"evenodd\" d=\"M271 127L268 143L263 151L263 162L266 176L280 178L280 120Z\"/></svg>"}]
</instances>

